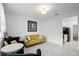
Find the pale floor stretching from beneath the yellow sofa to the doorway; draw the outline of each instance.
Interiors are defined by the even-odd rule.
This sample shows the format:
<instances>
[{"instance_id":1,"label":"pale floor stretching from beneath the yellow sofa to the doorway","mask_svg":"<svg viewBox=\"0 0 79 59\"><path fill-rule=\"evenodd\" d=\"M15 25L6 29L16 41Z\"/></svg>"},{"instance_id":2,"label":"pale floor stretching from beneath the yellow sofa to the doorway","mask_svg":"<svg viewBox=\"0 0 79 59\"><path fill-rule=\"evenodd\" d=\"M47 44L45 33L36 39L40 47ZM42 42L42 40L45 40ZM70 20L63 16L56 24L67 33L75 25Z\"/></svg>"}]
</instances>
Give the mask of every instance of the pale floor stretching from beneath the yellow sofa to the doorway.
<instances>
[{"instance_id":1,"label":"pale floor stretching from beneath the yellow sofa to the doorway","mask_svg":"<svg viewBox=\"0 0 79 59\"><path fill-rule=\"evenodd\" d=\"M43 43L29 48L25 48L25 53L36 53L36 49L40 48L42 56L79 56L79 50L73 47L61 47L53 43Z\"/></svg>"}]
</instances>

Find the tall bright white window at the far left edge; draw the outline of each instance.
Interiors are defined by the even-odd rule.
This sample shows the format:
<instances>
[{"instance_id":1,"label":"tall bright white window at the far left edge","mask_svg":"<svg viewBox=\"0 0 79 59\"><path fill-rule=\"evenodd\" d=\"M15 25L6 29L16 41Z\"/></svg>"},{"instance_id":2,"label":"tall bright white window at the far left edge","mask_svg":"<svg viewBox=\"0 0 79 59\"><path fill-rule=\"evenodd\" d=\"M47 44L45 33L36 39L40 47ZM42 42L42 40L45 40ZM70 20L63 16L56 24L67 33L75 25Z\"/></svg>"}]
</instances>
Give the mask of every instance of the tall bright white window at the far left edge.
<instances>
[{"instance_id":1,"label":"tall bright white window at the far left edge","mask_svg":"<svg viewBox=\"0 0 79 59\"><path fill-rule=\"evenodd\" d=\"M5 31L6 31L6 25L5 25L4 8L2 4L0 4L0 41L4 37Z\"/></svg>"}]
</instances>

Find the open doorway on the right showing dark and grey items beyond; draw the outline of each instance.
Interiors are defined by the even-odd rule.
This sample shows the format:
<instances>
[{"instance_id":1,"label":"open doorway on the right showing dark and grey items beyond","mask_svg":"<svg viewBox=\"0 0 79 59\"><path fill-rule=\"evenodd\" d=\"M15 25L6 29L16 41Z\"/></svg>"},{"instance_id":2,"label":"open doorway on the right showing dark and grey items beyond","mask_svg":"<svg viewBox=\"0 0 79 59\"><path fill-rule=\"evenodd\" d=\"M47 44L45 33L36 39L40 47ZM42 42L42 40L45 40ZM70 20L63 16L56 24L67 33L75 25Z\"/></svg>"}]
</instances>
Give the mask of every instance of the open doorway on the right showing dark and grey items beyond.
<instances>
[{"instance_id":1,"label":"open doorway on the right showing dark and grey items beyond","mask_svg":"<svg viewBox=\"0 0 79 59\"><path fill-rule=\"evenodd\" d=\"M78 49L78 16L63 19L63 44Z\"/></svg>"}]
</instances>

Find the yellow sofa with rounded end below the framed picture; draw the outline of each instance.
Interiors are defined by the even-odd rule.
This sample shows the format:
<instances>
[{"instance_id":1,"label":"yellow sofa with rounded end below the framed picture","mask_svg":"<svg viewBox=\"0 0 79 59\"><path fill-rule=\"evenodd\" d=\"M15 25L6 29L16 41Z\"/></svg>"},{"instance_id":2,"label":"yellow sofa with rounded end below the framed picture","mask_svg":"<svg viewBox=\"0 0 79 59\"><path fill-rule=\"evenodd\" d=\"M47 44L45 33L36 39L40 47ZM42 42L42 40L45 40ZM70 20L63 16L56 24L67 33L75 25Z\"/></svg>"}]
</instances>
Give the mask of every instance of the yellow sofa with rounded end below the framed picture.
<instances>
[{"instance_id":1,"label":"yellow sofa with rounded end below the framed picture","mask_svg":"<svg viewBox=\"0 0 79 59\"><path fill-rule=\"evenodd\" d=\"M24 39L24 45L26 47L43 43L46 41L46 37L43 35L28 35Z\"/></svg>"}]
</instances>

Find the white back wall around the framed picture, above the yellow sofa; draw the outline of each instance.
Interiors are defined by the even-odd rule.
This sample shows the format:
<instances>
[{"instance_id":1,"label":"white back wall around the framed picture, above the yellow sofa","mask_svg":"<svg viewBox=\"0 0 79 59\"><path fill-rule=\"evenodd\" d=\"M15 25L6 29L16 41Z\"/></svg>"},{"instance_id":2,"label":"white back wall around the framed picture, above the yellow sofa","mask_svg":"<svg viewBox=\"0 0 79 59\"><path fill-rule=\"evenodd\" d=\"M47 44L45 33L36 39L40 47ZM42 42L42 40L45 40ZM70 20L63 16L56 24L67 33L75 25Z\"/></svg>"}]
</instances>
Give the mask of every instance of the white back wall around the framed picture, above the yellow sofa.
<instances>
[{"instance_id":1,"label":"white back wall around the framed picture, above the yellow sofa","mask_svg":"<svg viewBox=\"0 0 79 59\"><path fill-rule=\"evenodd\" d=\"M28 20L37 21L37 32L28 32ZM7 32L9 33L9 35L20 36L21 40L25 37L25 35L41 34L41 25L39 19L27 18L20 15L6 14L6 22Z\"/></svg>"}]
</instances>

